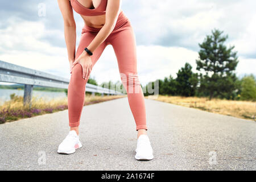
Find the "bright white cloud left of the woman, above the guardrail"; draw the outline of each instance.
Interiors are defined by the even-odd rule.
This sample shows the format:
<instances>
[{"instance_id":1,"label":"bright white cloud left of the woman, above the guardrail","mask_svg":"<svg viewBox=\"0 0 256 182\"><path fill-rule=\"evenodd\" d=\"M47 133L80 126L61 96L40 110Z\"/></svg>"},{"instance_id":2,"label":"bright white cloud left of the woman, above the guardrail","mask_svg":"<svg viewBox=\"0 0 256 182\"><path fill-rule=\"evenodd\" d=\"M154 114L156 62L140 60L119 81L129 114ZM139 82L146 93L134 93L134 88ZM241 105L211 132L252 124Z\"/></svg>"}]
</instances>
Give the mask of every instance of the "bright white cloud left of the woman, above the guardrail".
<instances>
[{"instance_id":1,"label":"bright white cloud left of the woman, above the guardrail","mask_svg":"<svg viewBox=\"0 0 256 182\"><path fill-rule=\"evenodd\" d=\"M12 18L9 27L0 29L0 51L9 53L13 51L31 51L46 55L58 52L60 47L51 47L41 39L47 34L63 37L62 32L47 30L42 22L20 21Z\"/></svg>"}]
</instances>

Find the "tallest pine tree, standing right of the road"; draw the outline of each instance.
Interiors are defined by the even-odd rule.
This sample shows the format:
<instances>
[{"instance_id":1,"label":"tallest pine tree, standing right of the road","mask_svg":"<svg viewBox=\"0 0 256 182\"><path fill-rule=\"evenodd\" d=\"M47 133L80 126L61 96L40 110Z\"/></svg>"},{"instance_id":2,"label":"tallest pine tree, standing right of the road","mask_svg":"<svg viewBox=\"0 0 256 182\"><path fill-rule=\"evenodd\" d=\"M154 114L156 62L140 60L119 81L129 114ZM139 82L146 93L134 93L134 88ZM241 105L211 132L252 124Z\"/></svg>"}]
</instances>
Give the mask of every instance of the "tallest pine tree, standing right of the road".
<instances>
[{"instance_id":1,"label":"tallest pine tree, standing right of the road","mask_svg":"<svg viewBox=\"0 0 256 182\"><path fill-rule=\"evenodd\" d=\"M224 45L228 35L222 33L213 30L212 35L207 35L199 44L199 59L196 60L196 69L205 72L200 74L200 92L208 95L210 100L216 96L229 98L236 89L237 52L233 51L234 46Z\"/></svg>"}]
</instances>

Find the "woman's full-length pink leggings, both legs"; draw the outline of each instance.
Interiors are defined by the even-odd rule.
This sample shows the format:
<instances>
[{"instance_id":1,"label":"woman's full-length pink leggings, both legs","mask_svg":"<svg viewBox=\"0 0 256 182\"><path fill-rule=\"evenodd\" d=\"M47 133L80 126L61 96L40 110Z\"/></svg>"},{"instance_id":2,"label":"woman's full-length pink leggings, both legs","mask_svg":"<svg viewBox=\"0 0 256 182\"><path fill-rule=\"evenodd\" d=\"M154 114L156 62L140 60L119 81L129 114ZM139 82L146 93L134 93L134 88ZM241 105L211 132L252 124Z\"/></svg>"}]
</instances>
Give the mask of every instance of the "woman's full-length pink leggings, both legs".
<instances>
[{"instance_id":1,"label":"woman's full-length pink leggings, both legs","mask_svg":"<svg viewBox=\"0 0 256 182\"><path fill-rule=\"evenodd\" d=\"M93 52L92 68L100 58L105 47L111 44L115 56L117 57L119 73L122 84L127 92L130 109L137 126L136 130L147 130L144 96L137 73L135 35L129 19L123 19L123 17L118 19L119 21L113 32L106 38L105 42ZM75 59L77 59L82 51L84 51L84 48L92 42L98 31L100 31L100 28L88 27L86 25L82 28L82 36ZM71 127L79 126L82 107L84 106L86 82L87 80L82 78L81 65L76 64L72 69L71 80L68 85L68 115L69 126Z\"/></svg>"}]
</instances>

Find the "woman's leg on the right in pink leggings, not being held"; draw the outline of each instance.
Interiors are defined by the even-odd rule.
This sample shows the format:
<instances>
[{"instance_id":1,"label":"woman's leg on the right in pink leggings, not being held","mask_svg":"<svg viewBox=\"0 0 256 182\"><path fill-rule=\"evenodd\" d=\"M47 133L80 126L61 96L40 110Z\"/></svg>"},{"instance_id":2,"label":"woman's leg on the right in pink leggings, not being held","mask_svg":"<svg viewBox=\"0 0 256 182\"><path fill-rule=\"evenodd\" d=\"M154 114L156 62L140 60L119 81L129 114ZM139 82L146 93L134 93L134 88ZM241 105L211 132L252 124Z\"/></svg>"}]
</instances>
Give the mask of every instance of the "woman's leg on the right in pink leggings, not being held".
<instances>
[{"instance_id":1,"label":"woman's leg on the right in pink leggings, not being held","mask_svg":"<svg viewBox=\"0 0 256 182\"><path fill-rule=\"evenodd\" d=\"M144 95L137 72L137 50L133 29L121 30L110 35L123 86L126 89L131 112L136 123L138 137L146 134L146 110Z\"/></svg>"}]
</instances>

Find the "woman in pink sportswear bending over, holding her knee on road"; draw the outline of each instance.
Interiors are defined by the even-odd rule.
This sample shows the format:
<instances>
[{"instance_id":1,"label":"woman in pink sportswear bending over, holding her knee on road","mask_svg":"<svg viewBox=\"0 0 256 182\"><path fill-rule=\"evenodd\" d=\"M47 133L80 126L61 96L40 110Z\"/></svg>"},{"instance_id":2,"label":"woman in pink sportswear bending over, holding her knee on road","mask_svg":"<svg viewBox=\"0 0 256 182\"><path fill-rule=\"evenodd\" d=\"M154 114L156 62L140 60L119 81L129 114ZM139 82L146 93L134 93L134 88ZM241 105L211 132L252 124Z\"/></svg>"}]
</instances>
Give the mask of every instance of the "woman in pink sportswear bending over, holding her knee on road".
<instances>
[{"instance_id":1,"label":"woman in pink sportswear bending over, holding her knee on road","mask_svg":"<svg viewBox=\"0 0 256 182\"><path fill-rule=\"evenodd\" d=\"M119 73L126 89L130 109L136 123L138 140L135 159L153 159L147 137L144 96L137 73L136 42L130 20L121 10L121 0L58 0L64 19L71 80L68 86L68 115L71 130L61 142L58 152L72 154L82 147L79 123L84 106L85 85L105 47L112 45ZM73 9L84 19L79 47L76 49L76 23Z\"/></svg>"}]
</instances>

